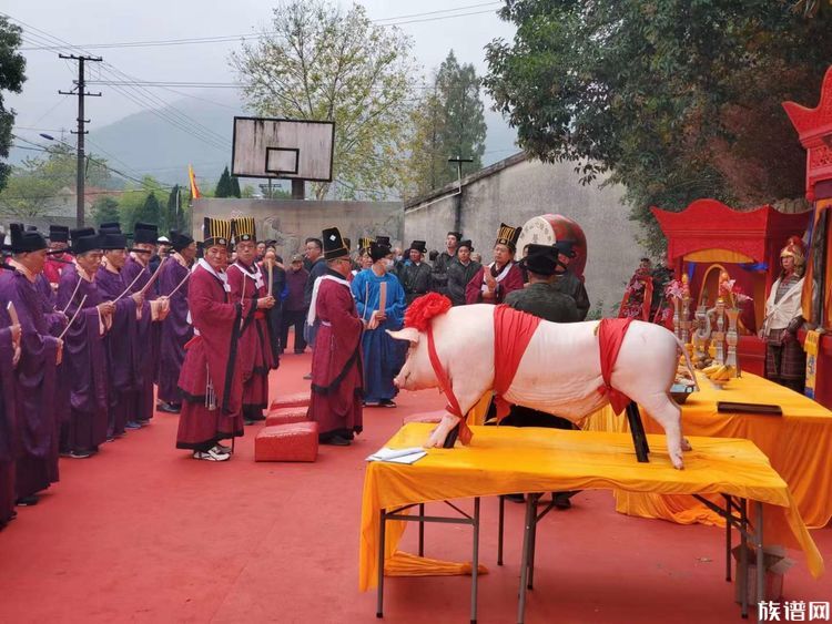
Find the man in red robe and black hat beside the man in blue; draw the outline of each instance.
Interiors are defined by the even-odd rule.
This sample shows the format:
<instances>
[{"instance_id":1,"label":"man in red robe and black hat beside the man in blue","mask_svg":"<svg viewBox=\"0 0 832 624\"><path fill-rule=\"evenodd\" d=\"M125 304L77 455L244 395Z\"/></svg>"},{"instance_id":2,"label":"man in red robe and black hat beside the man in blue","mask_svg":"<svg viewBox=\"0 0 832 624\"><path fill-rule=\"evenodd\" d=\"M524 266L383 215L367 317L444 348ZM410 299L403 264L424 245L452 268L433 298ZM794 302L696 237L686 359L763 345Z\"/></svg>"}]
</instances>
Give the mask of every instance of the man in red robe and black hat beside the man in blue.
<instances>
[{"instance_id":1,"label":"man in red robe and black hat beside the man in blue","mask_svg":"<svg viewBox=\"0 0 832 624\"><path fill-rule=\"evenodd\" d=\"M337 227L323 232L326 273L315 283L307 324L319 321L312 354L308 417L323 444L349 446L362 431L362 330L349 290L349 249Z\"/></svg>"}]
</instances>

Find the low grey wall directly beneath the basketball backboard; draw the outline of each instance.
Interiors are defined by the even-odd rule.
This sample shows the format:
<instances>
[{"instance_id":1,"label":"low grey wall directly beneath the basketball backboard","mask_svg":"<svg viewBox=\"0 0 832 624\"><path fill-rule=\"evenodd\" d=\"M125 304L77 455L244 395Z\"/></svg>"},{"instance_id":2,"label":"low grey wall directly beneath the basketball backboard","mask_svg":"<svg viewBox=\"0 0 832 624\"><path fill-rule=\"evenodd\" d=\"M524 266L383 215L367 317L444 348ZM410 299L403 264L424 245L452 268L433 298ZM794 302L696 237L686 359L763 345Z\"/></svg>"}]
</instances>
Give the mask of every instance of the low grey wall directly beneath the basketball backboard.
<instances>
[{"instance_id":1,"label":"low grey wall directly beneath the basketball backboard","mask_svg":"<svg viewBox=\"0 0 832 624\"><path fill-rule=\"evenodd\" d=\"M386 235L396 244L404 236L404 209L400 202L307 202L295 200L216 200L205 197L193 203L193 236L202 241L203 217L253 216L257 239L277 241L284 259L301 250L307 236L321 237L324 227L337 226L352 241L361 236Z\"/></svg>"}]
</instances>

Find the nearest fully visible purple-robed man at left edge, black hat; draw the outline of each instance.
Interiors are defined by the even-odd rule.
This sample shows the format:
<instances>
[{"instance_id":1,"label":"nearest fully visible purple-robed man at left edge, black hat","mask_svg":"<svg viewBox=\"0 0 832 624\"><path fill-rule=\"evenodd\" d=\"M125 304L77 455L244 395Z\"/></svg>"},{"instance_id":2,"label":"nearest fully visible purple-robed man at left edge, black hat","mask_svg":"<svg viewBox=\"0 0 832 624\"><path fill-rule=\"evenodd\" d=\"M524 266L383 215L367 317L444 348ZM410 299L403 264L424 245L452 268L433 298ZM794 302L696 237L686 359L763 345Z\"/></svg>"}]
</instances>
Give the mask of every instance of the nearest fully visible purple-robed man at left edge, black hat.
<instances>
[{"instance_id":1,"label":"nearest fully visible purple-robed man at left edge, black hat","mask_svg":"<svg viewBox=\"0 0 832 624\"><path fill-rule=\"evenodd\" d=\"M17 503L37 504L37 493L58 481L58 423L55 370L61 340L50 336L59 315L45 315L43 296L35 286L47 259L47 242L38 232L11 225L10 266L0 275L0 301L13 304L20 320L20 360L14 370L14 411L19 420L16 462Z\"/></svg>"}]
</instances>

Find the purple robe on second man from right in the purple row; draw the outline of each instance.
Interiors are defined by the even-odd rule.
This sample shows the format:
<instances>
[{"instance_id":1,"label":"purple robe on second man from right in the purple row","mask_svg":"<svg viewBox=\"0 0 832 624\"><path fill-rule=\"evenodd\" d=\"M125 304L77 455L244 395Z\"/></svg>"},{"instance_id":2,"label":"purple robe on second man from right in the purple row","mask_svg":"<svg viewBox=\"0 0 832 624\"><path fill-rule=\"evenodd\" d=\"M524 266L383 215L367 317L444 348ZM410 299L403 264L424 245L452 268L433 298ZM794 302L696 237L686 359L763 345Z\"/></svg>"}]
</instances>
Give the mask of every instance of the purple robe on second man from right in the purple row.
<instances>
[{"instance_id":1,"label":"purple robe on second man from right in the purple row","mask_svg":"<svg viewBox=\"0 0 832 624\"><path fill-rule=\"evenodd\" d=\"M168 263L165 263L168 264ZM150 282L152 276L150 269L136 262L132 255L124 263L121 269L124 284L130 285L136 276L139 279L130 288L131 293L139 293ZM144 294L144 304L142 308L142 318L136 321L138 340L141 345L138 349L134 370L136 391L133 395L133 405L130 407L131 418L133 420L150 420L153 418L155 409L153 402L153 381L156 376L156 366L159 361L159 341L160 324L153 323L151 318L150 300L155 299L153 287Z\"/></svg>"}]
</instances>

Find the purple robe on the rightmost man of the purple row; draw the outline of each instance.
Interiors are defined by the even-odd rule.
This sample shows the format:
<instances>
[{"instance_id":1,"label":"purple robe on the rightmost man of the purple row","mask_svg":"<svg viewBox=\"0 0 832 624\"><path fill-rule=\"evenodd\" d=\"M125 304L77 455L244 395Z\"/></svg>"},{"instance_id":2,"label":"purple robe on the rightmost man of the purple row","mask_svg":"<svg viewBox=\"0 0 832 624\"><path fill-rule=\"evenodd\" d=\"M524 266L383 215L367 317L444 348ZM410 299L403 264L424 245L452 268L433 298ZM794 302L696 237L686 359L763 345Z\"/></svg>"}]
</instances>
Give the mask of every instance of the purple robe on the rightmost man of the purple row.
<instances>
[{"instance_id":1,"label":"purple robe on the rightmost man of the purple row","mask_svg":"<svg viewBox=\"0 0 832 624\"><path fill-rule=\"evenodd\" d=\"M173 257L159 269L159 293L170 295L179 286L189 270ZM189 279L190 282L190 279ZM187 323L187 287L176 290L170 298L171 311L162 321L162 339L159 354L159 398L169 403L182 402L179 389L179 375L185 361L185 345L193 338L193 326Z\"/></svg>"}]
</instances>

